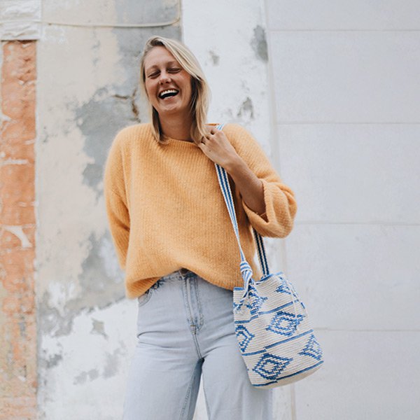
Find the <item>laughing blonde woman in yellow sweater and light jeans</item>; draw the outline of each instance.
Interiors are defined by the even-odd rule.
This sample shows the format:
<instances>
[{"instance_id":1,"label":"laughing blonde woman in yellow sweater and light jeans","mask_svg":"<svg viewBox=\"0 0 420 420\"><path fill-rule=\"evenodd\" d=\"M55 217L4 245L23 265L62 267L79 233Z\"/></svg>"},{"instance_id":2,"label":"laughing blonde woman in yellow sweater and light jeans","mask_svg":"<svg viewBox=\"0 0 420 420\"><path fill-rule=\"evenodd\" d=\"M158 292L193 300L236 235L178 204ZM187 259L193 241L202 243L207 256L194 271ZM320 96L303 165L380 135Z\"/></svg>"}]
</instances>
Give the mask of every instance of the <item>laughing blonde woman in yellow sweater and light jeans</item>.
<instances>
[{"instance_id":1,"label":"laughing blonde woman in yellow sweater and light jeans","mask_svg":"<svg viewBox=\"0 0 420 420\"><path fill-rule=\"evenodd\" d=\"M244 128L207 124L207 82L185 45L150 38L141 85L152 121L118 132L104 174L126 295L138 300L124 419L192 419L201 374L209 419L272 419L272 389L251 385L235 336L240 255L214 163L230 176L254 279L251 226L286 237L293 192Z\"/></svg>"}]
</instances>

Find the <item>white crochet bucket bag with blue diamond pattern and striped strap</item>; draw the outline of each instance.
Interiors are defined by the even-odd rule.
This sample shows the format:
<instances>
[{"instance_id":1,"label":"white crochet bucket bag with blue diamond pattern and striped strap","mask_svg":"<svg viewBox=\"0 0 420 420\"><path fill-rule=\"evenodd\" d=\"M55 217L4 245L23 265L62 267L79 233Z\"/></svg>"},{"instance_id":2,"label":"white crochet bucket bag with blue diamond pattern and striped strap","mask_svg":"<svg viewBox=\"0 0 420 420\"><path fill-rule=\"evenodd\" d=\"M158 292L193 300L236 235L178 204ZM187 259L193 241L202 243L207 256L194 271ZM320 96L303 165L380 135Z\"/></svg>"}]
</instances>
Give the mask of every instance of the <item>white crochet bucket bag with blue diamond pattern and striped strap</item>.
<instances>
[{"instance_id":1,"label":"white crochet bucket bag with blue diamond pattern and striped strap","mask_svg":"<svg viewBox=\"0 0 420 420\"><path fill-rule=\"evenodd\" d=\"M219 125L221 130L223 125ZM225 169L215 164L218 181L232 221L241 262L244 287L233 290L235 334L248 377L253 386L274 388L307 377L321 367L323 352L307 310L283 272L270 274L260 234L253 229L260 280L253 279L239 241L239 230L232 193Z\"/></svg>"}]
</instances>

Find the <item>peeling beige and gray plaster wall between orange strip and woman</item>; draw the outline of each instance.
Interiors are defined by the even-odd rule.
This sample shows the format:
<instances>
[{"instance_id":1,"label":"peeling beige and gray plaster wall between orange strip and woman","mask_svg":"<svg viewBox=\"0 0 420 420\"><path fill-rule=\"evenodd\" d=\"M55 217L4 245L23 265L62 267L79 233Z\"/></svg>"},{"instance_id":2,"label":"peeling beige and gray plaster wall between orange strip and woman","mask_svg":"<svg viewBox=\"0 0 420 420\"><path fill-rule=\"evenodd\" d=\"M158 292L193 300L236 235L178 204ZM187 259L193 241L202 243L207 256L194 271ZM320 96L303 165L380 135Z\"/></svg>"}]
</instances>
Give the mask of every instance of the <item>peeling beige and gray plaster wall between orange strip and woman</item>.
<instances>
[{"instance_id":1,"label":"peeling beige and gray plaster wall between orange strip and woman","mask_svg":"<svg viewBox=\"0 0 420 420\"><path fill-rule=\"evenodd\" d=\"M41 419L120 419L137 306L125 300L102 170L120 128L144 121L139 58L175 1L43 2L38 47L38 403Z\"/></svg>"}]
</instances>

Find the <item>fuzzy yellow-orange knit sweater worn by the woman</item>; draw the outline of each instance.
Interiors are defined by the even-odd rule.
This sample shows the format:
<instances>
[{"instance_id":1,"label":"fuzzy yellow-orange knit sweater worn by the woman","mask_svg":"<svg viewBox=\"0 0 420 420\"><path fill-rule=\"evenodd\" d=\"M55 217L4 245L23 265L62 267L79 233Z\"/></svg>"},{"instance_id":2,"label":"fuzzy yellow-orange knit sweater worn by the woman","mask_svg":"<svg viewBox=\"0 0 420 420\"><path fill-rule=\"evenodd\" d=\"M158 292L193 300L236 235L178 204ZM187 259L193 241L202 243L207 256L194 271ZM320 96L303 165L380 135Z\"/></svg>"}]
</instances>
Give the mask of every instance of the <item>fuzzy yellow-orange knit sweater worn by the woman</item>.
<instances>
[{"instance_id":1,"label":"fuzzy yellow-orange knit sweater worn by the woman","mask_svg":"<svg viewBox=\"0 0 420 420\"><path fill-rule=\"evenodd\" d=\"M230 179L241 246L258 280L251 226L262 236L286 237L296 202L251 134L237 124L225 125L223 132L264 185L266 211L258 216ZM127 297L143 294L183 267L216 286L243 286L239 248L214 162L194 143L169 139L158 144L150 124L125 127L109 150L104 195Z\"/></svg>"}]
</instances>

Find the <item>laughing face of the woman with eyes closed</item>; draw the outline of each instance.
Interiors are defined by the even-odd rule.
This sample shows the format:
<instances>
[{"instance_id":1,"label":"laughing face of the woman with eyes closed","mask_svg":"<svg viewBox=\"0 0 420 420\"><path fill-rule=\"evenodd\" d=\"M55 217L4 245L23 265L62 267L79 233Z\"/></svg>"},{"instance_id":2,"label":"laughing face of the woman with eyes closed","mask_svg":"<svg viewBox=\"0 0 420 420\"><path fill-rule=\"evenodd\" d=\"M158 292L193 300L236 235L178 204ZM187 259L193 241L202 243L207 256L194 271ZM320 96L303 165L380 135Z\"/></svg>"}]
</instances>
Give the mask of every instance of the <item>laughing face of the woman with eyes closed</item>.
<instances>
[{"instance_id":1,"label":"laughing face of the woman with eyes closed","mask_svg":"<svg viewBox=\"0 0 420 420\"><path fill-rule=\"evenodd\" d=\"M191 76L162 46L152 48L144 59L145 87L148 99L159 118L190 114Z\"/></svg>"}]
</instances>

